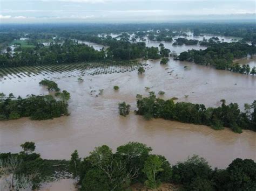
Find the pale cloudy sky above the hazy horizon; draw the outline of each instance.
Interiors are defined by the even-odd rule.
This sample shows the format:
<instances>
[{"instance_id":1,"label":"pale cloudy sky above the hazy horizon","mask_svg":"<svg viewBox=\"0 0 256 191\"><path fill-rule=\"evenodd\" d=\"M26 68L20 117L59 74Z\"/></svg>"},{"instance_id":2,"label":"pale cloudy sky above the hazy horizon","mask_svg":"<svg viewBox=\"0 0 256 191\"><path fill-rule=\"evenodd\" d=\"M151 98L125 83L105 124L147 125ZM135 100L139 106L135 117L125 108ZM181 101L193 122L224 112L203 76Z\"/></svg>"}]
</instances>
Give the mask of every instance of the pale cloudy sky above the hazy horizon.
<instances>
[{"instance_id":1,"label":"pale cloudy sky above the hazy horizon","mask_svg":"<svg viewBox=\"0 0 256 191\"><path fill-rule=\"evenodd\" d=\"M255 0L0 0L0 23L255 19Z\"/></svg>"}]
</instances>

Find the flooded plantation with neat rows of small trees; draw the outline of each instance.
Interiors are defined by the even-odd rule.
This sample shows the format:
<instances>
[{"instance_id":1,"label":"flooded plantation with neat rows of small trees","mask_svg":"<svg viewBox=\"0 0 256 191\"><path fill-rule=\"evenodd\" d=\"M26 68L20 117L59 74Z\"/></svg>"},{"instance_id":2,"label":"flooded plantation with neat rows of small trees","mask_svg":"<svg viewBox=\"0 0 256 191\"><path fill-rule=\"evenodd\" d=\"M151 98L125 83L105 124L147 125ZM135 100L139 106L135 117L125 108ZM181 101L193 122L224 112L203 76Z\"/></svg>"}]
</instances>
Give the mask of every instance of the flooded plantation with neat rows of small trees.
<instances>
[{"instance_id":1,"label":"flooded plantation with neat rows of small trees","mask_svg":"<svg viewBox=\"0 0 256 191\"><path fill-rule=\"evenodd\" d=\"M62 65L43 65L43 66L22 66L14 68L0 68L0 77L3 80L8 79L22 79L23 77L32 77L36 75L52 75L55 73L65 74L69 76L77 75L99 75L124 73L137 70L140 66L146 66L136 61L133 62L90 62L90 63L73 63ZM75 73L75 74L74 74Z\"/></svg>"}]
</instances>

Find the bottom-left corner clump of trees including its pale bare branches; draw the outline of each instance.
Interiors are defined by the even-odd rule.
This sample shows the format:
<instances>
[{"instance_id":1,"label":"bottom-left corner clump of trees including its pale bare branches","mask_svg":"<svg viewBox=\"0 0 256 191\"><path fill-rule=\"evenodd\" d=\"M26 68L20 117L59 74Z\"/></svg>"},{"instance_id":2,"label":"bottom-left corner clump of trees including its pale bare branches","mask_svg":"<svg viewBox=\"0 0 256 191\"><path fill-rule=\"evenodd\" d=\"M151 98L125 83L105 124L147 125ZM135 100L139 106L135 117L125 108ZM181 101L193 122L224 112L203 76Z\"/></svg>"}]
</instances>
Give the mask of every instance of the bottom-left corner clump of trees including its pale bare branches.
<instances>
[{"instance_id":1,"label":"bottom-left corner clump of trees including its pale bare branches","mask_svg":"<svg viewBox=\"0 0 256 191\"><path fill-rule=\"evenodd\" d=\"M46 160L35 153L35 143L25 142L22 152L0 153L1 190L34 190L42 182L50 181L59 174L69 172L69 161Z\"/></svg>"}]
</instances>

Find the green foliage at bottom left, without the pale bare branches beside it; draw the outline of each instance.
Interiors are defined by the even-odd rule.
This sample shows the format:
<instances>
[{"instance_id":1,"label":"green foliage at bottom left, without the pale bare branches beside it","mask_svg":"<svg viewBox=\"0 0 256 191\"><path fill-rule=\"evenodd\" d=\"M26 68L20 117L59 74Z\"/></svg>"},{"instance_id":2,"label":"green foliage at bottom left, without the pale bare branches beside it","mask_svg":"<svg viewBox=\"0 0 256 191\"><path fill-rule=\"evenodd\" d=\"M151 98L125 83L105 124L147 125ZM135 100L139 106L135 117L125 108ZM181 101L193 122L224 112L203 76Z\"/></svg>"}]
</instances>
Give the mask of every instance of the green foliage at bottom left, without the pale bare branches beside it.
<instances>
[{"instance_id":1,"label":"green foliage at bottom left, without the pale bare branches beside it","mask_svg":"<svg viewBox=\"0 0 256 191\"><path fill-rule=\"evenodd\" d=\"M42 182L60 178L57 174L69 173L67 161L42 159L40 154L32 153L36 147L33 142L25 142L21 146L24 152L0 153L0 172L2 167L7 168L9 161L12 161L11 168L15 168L15 171L9 173L15 173L16 179L29 178L32 189L39 188Z\"/></svg>"}]
</instances>

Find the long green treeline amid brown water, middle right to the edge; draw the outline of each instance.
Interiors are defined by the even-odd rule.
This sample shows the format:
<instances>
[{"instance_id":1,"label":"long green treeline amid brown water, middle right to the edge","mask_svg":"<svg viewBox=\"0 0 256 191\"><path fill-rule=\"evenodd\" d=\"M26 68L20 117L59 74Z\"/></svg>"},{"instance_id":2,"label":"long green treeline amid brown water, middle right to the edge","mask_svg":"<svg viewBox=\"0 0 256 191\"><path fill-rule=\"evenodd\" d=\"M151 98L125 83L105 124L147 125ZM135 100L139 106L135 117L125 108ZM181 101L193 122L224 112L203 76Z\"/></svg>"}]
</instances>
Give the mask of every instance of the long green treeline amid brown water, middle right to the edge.
<instances>
[{"instance_id":1,"label":"long green treeline amid brown water, middle right to the edge","mask_svg":"<svg viewBox=\"0 0 256 191\"><path fill-rule=\"evenodd\" d=\"M226 105L225 100L221 102L221 107L206 108L204 104L163 100L150 92L149 97L137 95L136 114L146 119L154 117L207 125L215 130L227 127L237 133L241 133L242 129L256 131L256 101L251 105L245 104L245 112L240 111L237 103Z\"/></svg>"}]
</instances>

